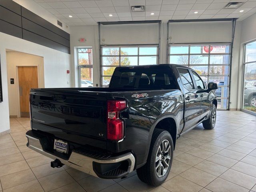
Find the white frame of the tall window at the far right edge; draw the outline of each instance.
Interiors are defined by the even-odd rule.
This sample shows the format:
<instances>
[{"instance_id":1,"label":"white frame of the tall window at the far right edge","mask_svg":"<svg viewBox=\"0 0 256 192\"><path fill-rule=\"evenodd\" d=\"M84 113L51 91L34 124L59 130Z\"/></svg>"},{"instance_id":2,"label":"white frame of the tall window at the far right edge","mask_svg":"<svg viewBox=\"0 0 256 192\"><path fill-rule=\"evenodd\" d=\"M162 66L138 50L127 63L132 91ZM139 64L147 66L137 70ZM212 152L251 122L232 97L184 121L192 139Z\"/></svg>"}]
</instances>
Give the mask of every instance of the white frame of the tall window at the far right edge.
<instances>
[{"instance_id":1,"label":"white frame of the tall window at the far right edge","mask_svg":"<svg viewBox=\"0 0 256 192\"><path fill-rule=\"evenodd\" d=\"M246 42L245 44L244 44L244 50L243 50L243 74L242 74L242 99L241 99L241 110L243 111L243 112L246 112L246 113L249 113L249 114L252 114L252 115L256 115L256 112L253 112L253 111L250 111L250 110L246 110L246 109L244 109L244 80L245 80L245 76L244 76L244 74L245 74L245 65L246 64L251 64L251 63L256 63L256 60L254 60L254 61L250 61L250 62L245 62L245 57L246 57L246 45L247 44L250 44L250 43L252 43L252 42L256 42L256 40L252 40L252 41L250 41L250 42Z\"/></svg>"}]
</instances>

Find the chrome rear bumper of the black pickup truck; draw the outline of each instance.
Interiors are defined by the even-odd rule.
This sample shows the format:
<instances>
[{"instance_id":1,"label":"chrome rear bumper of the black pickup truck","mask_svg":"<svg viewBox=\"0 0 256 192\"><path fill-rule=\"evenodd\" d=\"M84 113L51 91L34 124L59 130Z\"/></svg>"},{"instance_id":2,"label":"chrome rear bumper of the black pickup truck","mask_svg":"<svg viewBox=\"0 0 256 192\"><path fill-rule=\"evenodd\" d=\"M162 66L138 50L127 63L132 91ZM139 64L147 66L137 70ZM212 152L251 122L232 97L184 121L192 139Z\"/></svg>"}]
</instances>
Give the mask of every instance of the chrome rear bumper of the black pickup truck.
<instances>
[{"instance_id":1,"label":"chrome rear bumper of the black pickup truck","mask_svg":"<svg viewBox=\"0 0 256 192\"><path fill-rule=\"evenodd\" d=\"M118 163L118 162L122 162L122 161L128 161L127 173L132 172L134 170L135 158L134 158L133 154L130 152L126 153L124 155L121 155L121 156L116 156L114 158L107 159L107 160L99 160L99 159L91 158L88 156L84 156L84 155L76 153L76 152L72 152L70 155L70 158L68 160L64 160L64 159L54 156L48 152L45 152L43 150L40 140L38 138L34 138L27 134L26 134L26 137L28 138L28 144L27 144L28 148L30 148L40 154L43 154L44 156L47 156L53 160L58 159L62 162L62 164L65 164L67 166L70 166L72 168L80 170L80 171L90 174L92 176L100 177L94 171L93 162L100 163L100 164L110 164L110 163Z\"/></svg>"}]
</instances>

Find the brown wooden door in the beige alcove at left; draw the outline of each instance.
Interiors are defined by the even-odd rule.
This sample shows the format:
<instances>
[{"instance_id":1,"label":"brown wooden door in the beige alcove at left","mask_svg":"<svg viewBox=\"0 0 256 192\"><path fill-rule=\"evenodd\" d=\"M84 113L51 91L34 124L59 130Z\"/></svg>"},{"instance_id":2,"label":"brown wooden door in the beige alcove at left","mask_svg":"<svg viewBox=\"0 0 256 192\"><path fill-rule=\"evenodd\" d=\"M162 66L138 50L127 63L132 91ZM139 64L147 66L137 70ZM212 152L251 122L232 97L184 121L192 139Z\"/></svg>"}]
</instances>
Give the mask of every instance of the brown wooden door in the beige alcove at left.
<instances>
[{"instance_id":1,"label":"brown wooden door in the beige alcove at left","mask_svg":"<svg viewBox=\"0 0 256 192\"><path fill-rule=\"evenodd\" d=\"M31 88L38 88L37 66L18 67L20 90L20 116L29 117L29 94Z\"/></svg>"}]
</instances>

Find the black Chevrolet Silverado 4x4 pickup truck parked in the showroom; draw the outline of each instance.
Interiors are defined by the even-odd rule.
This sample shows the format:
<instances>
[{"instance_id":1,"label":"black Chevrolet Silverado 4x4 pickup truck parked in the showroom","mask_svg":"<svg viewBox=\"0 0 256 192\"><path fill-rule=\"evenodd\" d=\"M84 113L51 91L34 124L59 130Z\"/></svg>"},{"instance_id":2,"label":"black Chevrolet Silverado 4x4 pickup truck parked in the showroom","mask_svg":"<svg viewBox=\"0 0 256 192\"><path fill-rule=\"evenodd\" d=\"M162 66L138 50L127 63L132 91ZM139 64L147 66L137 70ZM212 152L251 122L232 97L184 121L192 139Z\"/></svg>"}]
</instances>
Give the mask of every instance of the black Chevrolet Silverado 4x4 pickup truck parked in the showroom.
<instances>
[{"instance_id":1,"label":"black Chevrolet Silverado 4x4 pickup truck parked in the showroom","mask_svg":"<svg viewBox=\"0 0 256 192\"><path fill-rule=\"evenodd\" d=\"M137 170L158 186L176 139L200 123L214 128L217 88L191 68L160 64L117 67L108 88L32 89L27 146L55 159L52 167L104 179Z\"/></svg>"}]
</instances>

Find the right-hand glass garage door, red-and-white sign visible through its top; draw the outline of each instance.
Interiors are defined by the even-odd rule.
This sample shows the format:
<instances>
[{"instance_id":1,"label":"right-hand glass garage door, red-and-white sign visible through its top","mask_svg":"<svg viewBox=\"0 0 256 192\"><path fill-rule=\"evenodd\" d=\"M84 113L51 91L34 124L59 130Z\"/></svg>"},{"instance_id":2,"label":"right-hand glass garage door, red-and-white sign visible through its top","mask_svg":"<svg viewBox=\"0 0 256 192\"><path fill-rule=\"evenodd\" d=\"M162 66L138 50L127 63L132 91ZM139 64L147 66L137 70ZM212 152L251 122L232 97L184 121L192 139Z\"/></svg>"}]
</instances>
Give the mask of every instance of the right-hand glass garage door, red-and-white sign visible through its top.
<instances>
[{"instance_id":1,"label":"right-hand glass garage door, red-and-white sign visible through its top","mask_svg":"<svg viewBox=\"0 0 256 192\"><path fill-rule=\"evenodd\" d=\"M228 109L230 45L169 45L169 63L189 66L208 84L217 83L218 109Z\"/></svg>"}]
</instances>

